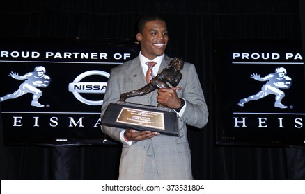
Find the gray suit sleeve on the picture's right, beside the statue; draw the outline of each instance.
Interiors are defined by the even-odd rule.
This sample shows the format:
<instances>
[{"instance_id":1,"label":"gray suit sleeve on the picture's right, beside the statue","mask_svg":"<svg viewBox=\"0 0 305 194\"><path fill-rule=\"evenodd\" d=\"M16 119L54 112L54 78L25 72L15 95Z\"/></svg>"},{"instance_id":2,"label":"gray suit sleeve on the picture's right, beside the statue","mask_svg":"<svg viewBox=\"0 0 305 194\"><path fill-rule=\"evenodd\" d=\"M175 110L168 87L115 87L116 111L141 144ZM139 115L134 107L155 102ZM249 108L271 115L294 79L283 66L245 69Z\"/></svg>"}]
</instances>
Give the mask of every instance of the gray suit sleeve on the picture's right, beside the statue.
<instances>
[{"instance_id":1,"label":"gray suit sleeve on the picture's right, beside the statue","mask_svg":"<svg viewBox=\"0 0 305 194\"><path fill-rule=\"evenodd\" d=\"M209 113L194 64L190 64L183 76L186 78L186 85L182 92L182 98L185 98L187 107L180 120L187 125L202 128L208 123Z\"/></svg>"}]
</instances>

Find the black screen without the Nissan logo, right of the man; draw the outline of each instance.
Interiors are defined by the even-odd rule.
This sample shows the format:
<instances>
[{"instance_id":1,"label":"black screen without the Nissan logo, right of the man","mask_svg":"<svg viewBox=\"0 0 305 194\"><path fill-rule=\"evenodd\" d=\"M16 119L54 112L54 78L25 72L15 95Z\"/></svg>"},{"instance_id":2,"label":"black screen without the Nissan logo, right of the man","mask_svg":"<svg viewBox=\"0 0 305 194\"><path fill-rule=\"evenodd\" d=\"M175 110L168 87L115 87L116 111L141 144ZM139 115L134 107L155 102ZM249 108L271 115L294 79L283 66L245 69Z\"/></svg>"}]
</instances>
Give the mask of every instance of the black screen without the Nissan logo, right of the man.
<instances>
[{"instance_id":1,"label":"black screen without the Nissan logo, right of the man","mask_svg":"<svg viewBox=\"0 0 305 194\"><path fill-rule=\"evenodd\" d=\"M219 145L305 145L302 42L217 40Z\"/></svg>"}]
</instances>

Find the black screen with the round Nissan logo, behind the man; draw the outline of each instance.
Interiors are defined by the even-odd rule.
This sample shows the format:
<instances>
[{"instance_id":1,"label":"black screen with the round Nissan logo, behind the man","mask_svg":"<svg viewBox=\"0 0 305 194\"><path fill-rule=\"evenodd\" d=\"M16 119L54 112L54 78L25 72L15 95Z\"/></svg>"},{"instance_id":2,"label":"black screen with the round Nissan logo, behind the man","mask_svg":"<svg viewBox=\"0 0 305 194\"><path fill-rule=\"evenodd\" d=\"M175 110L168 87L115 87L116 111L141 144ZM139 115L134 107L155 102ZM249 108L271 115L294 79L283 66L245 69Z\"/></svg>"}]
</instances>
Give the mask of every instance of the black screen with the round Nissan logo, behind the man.
<instances>
[{"instance_id":1,"label":"black screen with the round Nissan logo, behind the man","mask_svg":"<svg viewBox=\"0 0 305 194\"><path fill-rule=\"evenodd\" d=\"M1 39L4 144L114 143L100 130L107 80L136 55L127 40Z\"/></svg>"}]
</instances>

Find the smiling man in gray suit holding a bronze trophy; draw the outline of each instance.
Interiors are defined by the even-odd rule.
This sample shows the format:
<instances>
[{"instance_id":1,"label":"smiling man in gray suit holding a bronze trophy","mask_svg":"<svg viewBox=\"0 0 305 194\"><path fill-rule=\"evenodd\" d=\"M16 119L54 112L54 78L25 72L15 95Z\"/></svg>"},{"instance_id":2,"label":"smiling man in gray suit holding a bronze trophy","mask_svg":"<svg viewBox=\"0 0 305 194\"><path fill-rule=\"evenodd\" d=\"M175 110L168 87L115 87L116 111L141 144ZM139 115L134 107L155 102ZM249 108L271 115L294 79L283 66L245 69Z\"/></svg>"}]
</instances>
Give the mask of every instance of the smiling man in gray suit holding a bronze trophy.
<instances>
[{"instance_id":1,"label":"smiling man in gray suit holding a bronze trophy","mask_svg":"<svg viewBox=\"0 0 305 194\"><path fill-rule=\"evenodd\" d=\"M141 52L133 60L111 69L101 116L109 103L120 100L120 94L146 85L146 62L155 62L154 76L171 62L164 54L169 41L164 19L143 17L138 30L136 39L141 43ZM180 72L182 78L175 89L161 88L126 100L153 106L159 103L174 109L180 136L102 125L102 132L123 143L119 179L193 179L187 125L204 127L208 122L208 108L194 64L185 62Z\"/></svg>"}]
</instances>

